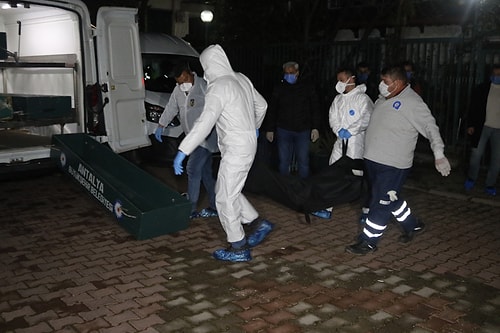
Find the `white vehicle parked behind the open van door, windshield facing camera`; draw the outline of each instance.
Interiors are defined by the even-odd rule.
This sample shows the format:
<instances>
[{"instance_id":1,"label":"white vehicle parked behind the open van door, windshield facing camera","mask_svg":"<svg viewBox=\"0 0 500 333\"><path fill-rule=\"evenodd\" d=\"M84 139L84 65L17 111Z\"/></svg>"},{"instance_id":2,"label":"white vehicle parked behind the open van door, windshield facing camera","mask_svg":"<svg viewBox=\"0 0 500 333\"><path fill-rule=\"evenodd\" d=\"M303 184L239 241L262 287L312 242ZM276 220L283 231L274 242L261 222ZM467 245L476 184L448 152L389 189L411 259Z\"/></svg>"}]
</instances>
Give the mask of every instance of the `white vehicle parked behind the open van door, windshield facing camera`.
<instances>
[{"instance_id":1,"label":"white vehicle parked behind the open van door, windshield facing camera","mask_svg":"<svg viewBox=\"0 0 500 333\"><path fill-rule=\"evenodd\" d=\"M156 162L170 162L184 137L179 119L175 118L163 130L162 143L154 138L163 110L175 88L174 67L188 63L198 75L202 75L198 52L185 40L163 33L141 33L141 52L146 87L145 109L147 131L151 146L142 149L142 158Z\"/></svg>"}]
</instances>

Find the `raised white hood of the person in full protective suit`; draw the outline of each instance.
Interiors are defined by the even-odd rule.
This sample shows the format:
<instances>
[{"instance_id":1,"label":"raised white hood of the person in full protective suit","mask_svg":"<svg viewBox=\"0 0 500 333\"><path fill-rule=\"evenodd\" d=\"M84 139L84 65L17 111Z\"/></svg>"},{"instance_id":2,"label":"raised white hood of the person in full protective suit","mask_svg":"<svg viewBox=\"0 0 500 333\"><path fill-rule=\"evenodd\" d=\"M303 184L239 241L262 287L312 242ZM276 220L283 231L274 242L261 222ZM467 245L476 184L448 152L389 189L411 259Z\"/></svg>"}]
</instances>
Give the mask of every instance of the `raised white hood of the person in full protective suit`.
<instances>
[{"instance_id":1,"label":"raised white hood of the person in full protective suit","mask_svg":"<svg viewBox=\"0 0 500 333\"><path fill-rule=\"evenodd\" d=\"M200 63L205 71L203 77L208 83L234 73L226 53L218 44L210 45L200 54Z\"/></svg>"}]
</instances>

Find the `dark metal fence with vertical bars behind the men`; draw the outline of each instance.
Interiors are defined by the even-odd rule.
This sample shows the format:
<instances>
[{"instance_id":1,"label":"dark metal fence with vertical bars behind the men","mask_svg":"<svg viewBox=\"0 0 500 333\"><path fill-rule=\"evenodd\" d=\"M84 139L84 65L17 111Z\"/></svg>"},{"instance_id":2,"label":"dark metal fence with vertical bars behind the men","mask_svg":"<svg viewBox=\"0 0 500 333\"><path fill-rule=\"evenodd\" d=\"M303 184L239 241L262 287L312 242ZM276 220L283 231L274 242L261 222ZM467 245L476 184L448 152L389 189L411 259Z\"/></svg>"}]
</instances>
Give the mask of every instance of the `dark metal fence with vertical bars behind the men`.
<instances>
[{"instance_id":1,"label":"dark metal fence with vertical bars behind the men","mask_svg":"<svg viewBox=\"0 0 500 333\"><path fill-rule=\"evenodd\" d=\"M491 65L500 63L500 43L470 43L462 38L411 39L400 41L397 49L389 40L369 39L304 45L228 46L233 68L249 76L257 89L268 98L281 79L281 65L288 60L301 64L301 75L309 75L317 84L322 109L335 96L336 70L355 68L360 61L370 64L372 73L394 59L414 63L416 76L424 83L423 98L441 129L447 148L465 143L463 121L472 88L488 77Z\"/></svg>"}]
</instances>

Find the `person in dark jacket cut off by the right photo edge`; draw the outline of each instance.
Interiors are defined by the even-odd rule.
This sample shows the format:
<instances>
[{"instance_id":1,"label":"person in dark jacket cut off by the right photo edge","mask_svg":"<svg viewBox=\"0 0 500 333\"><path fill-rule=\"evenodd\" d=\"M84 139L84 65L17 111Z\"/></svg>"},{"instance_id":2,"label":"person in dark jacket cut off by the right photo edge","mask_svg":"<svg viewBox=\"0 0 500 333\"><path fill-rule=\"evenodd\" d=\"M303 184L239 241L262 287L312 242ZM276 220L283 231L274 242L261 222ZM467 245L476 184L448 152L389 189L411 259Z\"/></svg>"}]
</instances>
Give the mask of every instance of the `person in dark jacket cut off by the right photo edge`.
<instances>
[{"instance_id":1,"label":"person in dark jacket cut off by the right photo edge","mask_svg":"<svg viewBox=\"0 0 500 333\"><path fill-rule=\"evenodd\" d=\"M488 141L491 146L490 166L486 175L485 192L495 196L495 187L500 172L500 64L493 66L490 80L476 87L471 96L467 134L470 136L472 151L465 190L475 185L481 158Z\"/></svg>"}]
</instances>

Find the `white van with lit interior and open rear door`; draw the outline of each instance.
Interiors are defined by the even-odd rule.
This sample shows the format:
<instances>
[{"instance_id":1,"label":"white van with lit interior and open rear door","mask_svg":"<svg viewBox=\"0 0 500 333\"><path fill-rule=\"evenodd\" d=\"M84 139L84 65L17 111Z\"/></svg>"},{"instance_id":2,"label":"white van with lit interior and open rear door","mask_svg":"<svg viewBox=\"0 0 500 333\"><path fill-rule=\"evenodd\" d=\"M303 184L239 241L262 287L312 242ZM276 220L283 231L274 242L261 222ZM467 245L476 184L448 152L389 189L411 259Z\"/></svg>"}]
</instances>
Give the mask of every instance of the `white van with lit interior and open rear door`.
<instances>
[{"instance_id":1,"label":"white van with lit interior and open rear door","mask_svg":"<svg viewBox=\"0 0 500 333\"><path fill-rule=\"evenodd\" d=\"M53 134L116 153L150 145L137 9L0 2L0 174L50 161Z\"/></svg>"}]
</instances>

